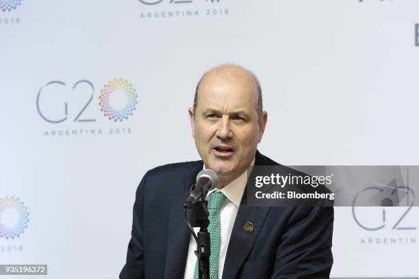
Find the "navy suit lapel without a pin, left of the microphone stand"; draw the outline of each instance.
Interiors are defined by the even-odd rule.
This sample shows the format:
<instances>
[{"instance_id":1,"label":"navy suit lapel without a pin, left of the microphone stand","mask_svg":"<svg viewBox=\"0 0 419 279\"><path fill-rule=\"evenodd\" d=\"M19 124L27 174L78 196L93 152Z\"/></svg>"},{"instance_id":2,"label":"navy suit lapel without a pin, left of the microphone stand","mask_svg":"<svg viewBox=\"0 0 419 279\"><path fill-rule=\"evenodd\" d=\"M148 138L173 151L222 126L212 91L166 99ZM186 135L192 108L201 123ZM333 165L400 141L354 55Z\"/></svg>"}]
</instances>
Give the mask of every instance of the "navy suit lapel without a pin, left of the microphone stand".
<instances>
[{"instance_id":1,"label":"navy suit lapel without a pin, left of the microphone stand","mask_svg":"<svg viewBox=\"0 0 419 279\"><path fill-rule=\"evenodd\" d=\"M164 278L167 279L183 278L190 241L190 233L183 215L183 203L188 198L190 187L194 183L196 174L202 168L203 163L198 163L196 169L183 180L181 187L170 188L168 238L164 272Z\"/></svg>"}]
</instances>

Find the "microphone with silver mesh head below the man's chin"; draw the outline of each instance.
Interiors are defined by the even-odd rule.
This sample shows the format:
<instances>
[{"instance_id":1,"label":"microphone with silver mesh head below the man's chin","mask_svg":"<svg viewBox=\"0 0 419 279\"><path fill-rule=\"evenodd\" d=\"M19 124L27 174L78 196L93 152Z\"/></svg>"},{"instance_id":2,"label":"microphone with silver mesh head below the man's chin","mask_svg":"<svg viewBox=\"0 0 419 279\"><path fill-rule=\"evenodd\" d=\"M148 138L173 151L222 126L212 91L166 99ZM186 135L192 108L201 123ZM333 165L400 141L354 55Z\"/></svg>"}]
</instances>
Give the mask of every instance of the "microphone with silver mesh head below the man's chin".
<instances>
[{"instance_id":1,"label":"microphone with silver mesh head below the man's chin","mask_svg":"<svg viewBox=\"0 0 419 279\"><path fill-rule=\"evenodd\" d=\"M183 207L191 209L196 202L199 202L203 196L206 196L208 191L215 189L218 185L218 175L213 170L201 170L196 176L196 184L194 189L190 192L188 200L186 200Z\"/></svg>"}]
</instances>

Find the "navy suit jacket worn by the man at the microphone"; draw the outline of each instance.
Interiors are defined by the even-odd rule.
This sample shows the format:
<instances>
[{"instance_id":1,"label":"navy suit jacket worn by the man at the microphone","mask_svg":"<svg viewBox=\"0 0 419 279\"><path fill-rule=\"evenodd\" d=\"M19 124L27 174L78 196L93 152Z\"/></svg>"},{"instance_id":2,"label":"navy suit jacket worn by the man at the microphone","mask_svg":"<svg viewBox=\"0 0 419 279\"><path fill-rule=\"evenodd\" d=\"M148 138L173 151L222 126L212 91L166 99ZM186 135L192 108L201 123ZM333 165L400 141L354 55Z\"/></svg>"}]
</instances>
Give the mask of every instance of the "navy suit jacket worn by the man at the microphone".
<instances>
[{"instance_id":1,"label":"navy suit jacket worn by the man at the microphone","mask_svg":"<svg viewBox=\"0 0 419 279\"><path fill-rule=\"evenodd\" d=\"M256 152L255 165L279 164ZM183 203L202 169L203 161L192 161L163 165L144 175L136 191L121 279L183 278L190 241ZM222 279L329 278L333 207L248 207L246 192ZM252 233L244 230L246 222L253 223Z\"/></svg>"}]
</instances>

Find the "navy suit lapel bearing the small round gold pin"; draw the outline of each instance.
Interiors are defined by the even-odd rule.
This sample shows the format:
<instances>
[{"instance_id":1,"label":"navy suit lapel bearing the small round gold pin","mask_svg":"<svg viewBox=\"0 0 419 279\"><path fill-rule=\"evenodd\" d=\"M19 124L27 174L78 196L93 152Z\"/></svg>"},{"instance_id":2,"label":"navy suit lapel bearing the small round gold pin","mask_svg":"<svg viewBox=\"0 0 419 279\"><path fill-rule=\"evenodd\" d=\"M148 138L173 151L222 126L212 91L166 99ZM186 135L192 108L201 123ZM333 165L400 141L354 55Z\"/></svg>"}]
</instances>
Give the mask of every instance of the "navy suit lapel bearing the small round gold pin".
<instances>
[{"instance_id":1,"label":"navy suit lapel bearing the small round gold pin","mask_svg":"<svg viewBox=\"0 0 419 279\"><path fill-rule=\"evenodd\" d=\"M265 157L256 152L255 165L270 165ZM266 219L266 215L270 207L248 207L247 206L247 185L244 189L242 201L236 216L236 220L231 231L229 247L227 248L227 255L225 257L223 278L235 278L240 267L242 267L246 256L249 254L255 243L257 236L262 229L262 225ZM251 222L253 224L253 232L246 233L244 224Z\"/></svg>"}]
</instances>

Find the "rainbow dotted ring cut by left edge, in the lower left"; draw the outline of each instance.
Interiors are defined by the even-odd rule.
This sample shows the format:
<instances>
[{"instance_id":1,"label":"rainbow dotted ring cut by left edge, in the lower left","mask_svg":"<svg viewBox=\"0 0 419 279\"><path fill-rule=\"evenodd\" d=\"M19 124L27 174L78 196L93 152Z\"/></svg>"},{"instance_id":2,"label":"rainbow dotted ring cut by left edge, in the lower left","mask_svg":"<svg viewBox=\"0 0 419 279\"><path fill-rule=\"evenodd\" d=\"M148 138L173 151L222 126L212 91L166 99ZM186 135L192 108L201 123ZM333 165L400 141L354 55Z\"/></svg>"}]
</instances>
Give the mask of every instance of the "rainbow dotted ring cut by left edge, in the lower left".
<instances>
[{"instance_id":1,"label":"rainbow dotted ring cut by left edge, in the lower left","mask_svg":"<svg viewBox=\"0 0 419 279\"><path fill-rule=\"evenodd\" d=\"M6 209L12 209L18 214L18 222L12 228L8 228L3 224L2 215ZM25 232L27 223L29 222L29 213L25 204L14 197L0 198L0 237L5 239L14 239Z\"/></svg>"}]
</instances>

